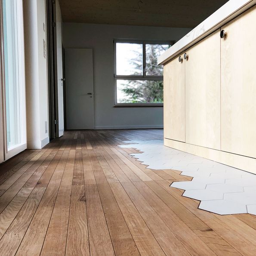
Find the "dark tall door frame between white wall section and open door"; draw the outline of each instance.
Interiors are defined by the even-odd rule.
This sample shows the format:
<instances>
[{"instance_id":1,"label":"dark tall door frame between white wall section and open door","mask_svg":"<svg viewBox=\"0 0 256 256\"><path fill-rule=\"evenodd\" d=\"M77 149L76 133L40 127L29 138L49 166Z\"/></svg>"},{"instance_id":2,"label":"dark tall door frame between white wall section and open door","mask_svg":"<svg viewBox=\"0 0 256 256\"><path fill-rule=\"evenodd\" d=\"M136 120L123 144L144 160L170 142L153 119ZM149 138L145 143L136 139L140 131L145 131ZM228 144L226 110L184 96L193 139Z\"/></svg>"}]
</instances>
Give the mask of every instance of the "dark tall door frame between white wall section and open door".
<instances>
[{"instance_id":1,"label":"dark tall door frame between white wall section and open door","mask_svg":"<svg viewBox=\"0 0 256 256\"><path fill-rule=\"evenodd\" d=\"M56 1L46 0L49 138L59 137Z\"/></svg>"}]
</instances>

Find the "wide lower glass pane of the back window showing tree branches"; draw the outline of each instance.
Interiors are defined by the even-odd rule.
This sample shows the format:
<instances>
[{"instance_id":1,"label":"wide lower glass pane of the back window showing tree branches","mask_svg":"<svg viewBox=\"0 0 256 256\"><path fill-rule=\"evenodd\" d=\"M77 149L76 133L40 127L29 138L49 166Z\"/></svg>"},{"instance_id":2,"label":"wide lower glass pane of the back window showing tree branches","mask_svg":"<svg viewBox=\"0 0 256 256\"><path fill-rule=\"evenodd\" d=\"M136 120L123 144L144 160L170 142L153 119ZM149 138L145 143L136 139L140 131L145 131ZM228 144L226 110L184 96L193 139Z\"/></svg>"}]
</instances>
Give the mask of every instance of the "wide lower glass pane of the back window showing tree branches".
<instances>
[{"instance_id":1,"label":"wide lower glass pane of the back window showing tree branches","mask_svg":"<svg viewBox=\"0 0 256 256\"><path fill-rule=\"evenodd\" d=\"M117 103L163 103L163 81L118 79Z\"/></svg>"}]
</instances>

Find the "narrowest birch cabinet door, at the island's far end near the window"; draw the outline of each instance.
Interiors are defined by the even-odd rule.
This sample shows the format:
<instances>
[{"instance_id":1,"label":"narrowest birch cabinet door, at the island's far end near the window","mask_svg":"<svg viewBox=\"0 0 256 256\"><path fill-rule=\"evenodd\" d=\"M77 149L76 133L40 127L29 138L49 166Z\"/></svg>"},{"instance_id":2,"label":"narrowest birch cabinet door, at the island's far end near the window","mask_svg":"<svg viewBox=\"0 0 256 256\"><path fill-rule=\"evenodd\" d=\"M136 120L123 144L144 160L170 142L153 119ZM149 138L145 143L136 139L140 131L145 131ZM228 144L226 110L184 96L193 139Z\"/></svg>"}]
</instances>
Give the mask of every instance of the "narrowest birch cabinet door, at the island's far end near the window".
<instances>
[{"instance_id":1,"label":"narrowest birch cabinet door, at the island's far end near the window","mask_svg":"<svg viewBox=\"0 0 256 256\"><path fill-rule=\"evenodd\" d=\"M185 142L185 63L182 53L163 67L164 138Z\"/></svg>"}]
</instances>

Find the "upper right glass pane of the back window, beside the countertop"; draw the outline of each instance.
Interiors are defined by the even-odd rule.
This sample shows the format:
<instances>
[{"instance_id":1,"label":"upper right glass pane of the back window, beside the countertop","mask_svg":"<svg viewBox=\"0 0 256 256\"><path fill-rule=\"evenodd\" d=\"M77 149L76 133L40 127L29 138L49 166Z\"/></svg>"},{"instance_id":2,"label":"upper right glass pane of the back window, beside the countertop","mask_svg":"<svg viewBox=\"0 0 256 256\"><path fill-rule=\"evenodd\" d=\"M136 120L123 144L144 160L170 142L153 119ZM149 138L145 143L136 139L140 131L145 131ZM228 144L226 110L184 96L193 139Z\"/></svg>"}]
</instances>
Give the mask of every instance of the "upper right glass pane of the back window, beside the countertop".
<instances>
[{"instance_id":1,"label":"upper right glass pane of the back window, beside the countertop","mask_svg":"<svg viewBox=\"0 0 256 256\"><path fill-rule=\"evenodd\" d=\"M163 65L157 65L157 57L170 48L169 44L146 44L146 75L162 76Z\"/></svg>"}]
</instances>

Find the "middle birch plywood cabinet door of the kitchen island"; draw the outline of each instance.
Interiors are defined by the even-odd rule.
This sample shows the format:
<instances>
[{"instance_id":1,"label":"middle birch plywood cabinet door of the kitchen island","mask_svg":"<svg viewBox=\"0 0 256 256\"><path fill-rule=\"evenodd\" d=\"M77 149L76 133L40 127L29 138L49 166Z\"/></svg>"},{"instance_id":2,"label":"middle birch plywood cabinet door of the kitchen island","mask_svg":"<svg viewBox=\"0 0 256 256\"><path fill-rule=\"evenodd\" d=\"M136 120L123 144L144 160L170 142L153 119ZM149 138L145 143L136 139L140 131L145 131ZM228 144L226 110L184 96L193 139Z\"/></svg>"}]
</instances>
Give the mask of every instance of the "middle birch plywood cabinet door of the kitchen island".
<instances>
[{"instance_id":1,"label":"middle birch plywood cabinet door of the kitchen island","mask_svg":"<svg viewBox=\"0 0 256 256\"><path fill-rule=\"evenodd\" d=\"M186 54L186 143L220 150L219 30Z\"/></svg>"}]
</instances>

